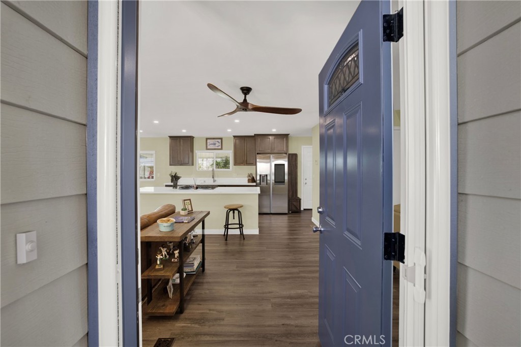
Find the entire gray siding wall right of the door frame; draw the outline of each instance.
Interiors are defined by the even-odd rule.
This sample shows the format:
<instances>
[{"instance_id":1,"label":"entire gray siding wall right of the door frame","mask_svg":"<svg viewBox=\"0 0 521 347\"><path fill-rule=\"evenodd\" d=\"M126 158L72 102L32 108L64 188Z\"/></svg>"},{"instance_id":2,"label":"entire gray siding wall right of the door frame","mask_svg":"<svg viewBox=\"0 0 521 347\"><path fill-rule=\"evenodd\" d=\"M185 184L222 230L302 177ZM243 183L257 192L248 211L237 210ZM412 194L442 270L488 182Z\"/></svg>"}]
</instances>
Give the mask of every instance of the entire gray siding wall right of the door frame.
<instances>
[{"instance_id":1,"label":"entire gray siding wall right of the door frame","mask_svg":"<svg viewBox=\"0 0 521 347\"><path fill-rule=\"evenodd\" d=\"M457 345L518 346L521 3L456 6Z\"/></svg>"}]
</instances>

